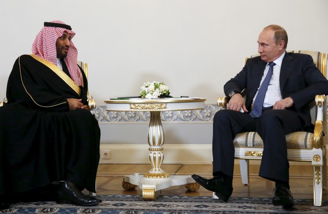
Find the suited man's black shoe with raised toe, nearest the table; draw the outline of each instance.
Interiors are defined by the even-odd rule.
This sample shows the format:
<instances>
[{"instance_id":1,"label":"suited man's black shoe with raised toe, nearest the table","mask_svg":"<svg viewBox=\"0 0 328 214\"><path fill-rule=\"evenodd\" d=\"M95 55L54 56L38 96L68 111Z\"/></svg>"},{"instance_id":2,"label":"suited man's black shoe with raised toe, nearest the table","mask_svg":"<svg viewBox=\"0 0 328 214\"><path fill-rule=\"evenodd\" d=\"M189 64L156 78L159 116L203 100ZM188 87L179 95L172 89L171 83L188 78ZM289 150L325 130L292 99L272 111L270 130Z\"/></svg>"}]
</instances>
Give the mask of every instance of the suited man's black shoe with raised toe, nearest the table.
<instances>
[{"instance_id":1,"label":"suited man's black shoe with raised toe, nearest the table","mask_svg":"<svg viewBox=\"0 0 328 214\"><path fill-rule=\"evenodd\" d=\"M223 176L215 176L211 179L206 179L197 174L193 174L191 177L205 189L214 192L214 194L224 202L227 202L233 193L234 188L232 187L232 181L231 184L227 184Z\"/></svg>"}]
</instances>

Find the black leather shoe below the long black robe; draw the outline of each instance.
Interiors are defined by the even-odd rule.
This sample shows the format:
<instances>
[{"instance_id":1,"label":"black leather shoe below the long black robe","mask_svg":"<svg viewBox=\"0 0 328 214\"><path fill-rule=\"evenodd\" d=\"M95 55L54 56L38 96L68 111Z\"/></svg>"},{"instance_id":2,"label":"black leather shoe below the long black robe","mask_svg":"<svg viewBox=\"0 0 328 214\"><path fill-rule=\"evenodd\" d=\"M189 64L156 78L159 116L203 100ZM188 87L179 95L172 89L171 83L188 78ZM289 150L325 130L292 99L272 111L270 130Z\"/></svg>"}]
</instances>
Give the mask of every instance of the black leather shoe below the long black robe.
<instances>
[{"instance_id":1,"label":"black leather shoe below the long black robe","mask_svg":"<svg viewBox=\"0 0 328 214\"><path fill-rule=\"evenodd\" d=\"M66 181L60 183L57 203L71 203L79 206L94 206L99 204L99 200L83 194L79 189L77 189L75 184Z\"/></svg>"}]
</instances>

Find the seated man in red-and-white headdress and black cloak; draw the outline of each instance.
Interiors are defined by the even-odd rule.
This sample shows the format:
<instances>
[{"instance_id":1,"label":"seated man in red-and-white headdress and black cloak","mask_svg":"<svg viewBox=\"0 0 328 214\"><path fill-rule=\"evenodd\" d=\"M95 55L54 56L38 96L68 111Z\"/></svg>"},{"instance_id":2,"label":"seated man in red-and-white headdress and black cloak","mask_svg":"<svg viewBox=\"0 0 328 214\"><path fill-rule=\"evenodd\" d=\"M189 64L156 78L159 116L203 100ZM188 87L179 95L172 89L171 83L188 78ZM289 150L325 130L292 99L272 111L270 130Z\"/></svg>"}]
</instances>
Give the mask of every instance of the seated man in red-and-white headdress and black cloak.
<instances>
[{"instance_id":1,"label":"seated man in red-and-white headdress and black cloak","mask_svg":"<svg viewBox=\"0 0 328 214\"><path fill-rule=\"evenodd\" d=\"M33 54L20 56L13 66L8 104L0 107L1 209L13 198L40 194L58 203L100 202L80 191L95 192L100 129L87 106L87 78L77 65L74 35L62 21L45 22Z\"/></svg>"}]
</instances>

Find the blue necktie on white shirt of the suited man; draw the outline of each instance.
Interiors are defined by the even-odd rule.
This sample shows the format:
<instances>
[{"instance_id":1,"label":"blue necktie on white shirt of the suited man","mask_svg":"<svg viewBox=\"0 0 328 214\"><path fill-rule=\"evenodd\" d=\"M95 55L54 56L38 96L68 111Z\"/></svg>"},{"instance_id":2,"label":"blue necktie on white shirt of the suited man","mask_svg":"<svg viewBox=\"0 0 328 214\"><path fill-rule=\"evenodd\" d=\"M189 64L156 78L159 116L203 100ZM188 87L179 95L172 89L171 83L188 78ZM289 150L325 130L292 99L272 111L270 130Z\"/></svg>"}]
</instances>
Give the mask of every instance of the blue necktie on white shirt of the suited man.
<instances>
[{"instance_id":1,"label":"blue necktie on white shirt of the suited man","mask_svg":"<svg viewBox=\"0 0 328 214\"><path fill-rule=\"evenodd\" d=\"M253 104L253 110L251 111L250 115L254 118L258 118L261 113L262 113L262 108L263 108L263 102L264 102L264 97L266 90L268 89L270 79L273 73L273 66L275 66L274 62L269 63L269 71L266 74L262 85L258 89L258 95L256 96L256 99Z\"/></svg>"}]
</instances>

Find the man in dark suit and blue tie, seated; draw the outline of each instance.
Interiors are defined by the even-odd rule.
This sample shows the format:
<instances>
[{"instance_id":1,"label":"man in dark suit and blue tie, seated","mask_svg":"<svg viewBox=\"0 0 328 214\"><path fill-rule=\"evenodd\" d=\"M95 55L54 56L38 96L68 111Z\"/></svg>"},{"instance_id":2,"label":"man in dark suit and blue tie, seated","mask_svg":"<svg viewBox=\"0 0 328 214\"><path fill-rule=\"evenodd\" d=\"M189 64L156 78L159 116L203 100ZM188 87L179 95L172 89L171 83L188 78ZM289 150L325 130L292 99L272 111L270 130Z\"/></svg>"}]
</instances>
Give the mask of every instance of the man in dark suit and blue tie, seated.
<instances>
[{"instance_id":1,"label":"man in dark suit and blue tie, seated","mask_svg":"<svg viewBox=\"0 0 328 214\"><path fill-rule=\"evenodd\" d=\"M313 129L308 104L315 95L328 94L328 81L311 56L287 53L287 42L281 26L265 27L258 37L260 56L248 59L224 86L230 101L213 120L214 177L192 177L225 202L233 192L233 139L237 133L257 131L264 142L259 176L276 183L273 205L294 206L285 135ZM241 96L244 89L246 101Z\"/></svg>"}]
</instances>

